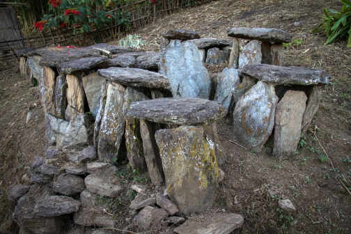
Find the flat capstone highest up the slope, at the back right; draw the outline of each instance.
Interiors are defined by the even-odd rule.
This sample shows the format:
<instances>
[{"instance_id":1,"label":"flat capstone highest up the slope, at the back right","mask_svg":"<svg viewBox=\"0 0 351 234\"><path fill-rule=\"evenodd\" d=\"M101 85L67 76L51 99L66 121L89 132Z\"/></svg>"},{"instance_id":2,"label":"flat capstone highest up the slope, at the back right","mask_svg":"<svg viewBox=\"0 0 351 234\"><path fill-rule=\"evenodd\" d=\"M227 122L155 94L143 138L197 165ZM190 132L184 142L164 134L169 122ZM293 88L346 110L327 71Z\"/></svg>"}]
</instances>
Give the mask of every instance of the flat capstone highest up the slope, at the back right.
<instances>
[{"instance_id":1,"label":"flat capstone highest up the slope, at the back right","mask_svg":"<svg viewBox=\"0 0 351 234\"><path fill-rule=\"evenodd\" d=\"M290 42L292 38L292 34L286 31L263 28L231 28L228 29L227 35L234 38L257 39L267 42Z\"/></svg>"}]
</instances>

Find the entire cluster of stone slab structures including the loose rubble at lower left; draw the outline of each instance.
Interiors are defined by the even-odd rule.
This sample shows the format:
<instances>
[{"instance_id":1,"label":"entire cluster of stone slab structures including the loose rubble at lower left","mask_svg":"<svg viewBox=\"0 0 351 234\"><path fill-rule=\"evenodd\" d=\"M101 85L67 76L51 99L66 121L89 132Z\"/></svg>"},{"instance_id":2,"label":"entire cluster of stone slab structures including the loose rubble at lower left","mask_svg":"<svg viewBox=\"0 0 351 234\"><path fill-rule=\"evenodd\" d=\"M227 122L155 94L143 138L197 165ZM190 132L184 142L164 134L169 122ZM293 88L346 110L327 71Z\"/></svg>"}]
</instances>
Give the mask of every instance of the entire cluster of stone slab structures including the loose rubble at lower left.
<instances>
[{"instance_id":1,"label":"entire cluster of stone slab structures including the loose rubble at lower left","mask_svg":"<svg viewBox=\"0 0 351 234\"><path fill-rule=\"evenodd\" d=\"M72 219L114 227L99 198L130 188L139 194L126 221L143 231L212 208L224 178L219 165L226 162L215 121L234 106L233 134L244 146L260 150L275 124L273 155L295 152L328 76L277 66L284 59L281 42L291 40L286 32L229 29L228 36L233 45L171 30L159 53L106 44L19 51L21 74L38 81L47 139L46 159L36 157L22 178L26 185L8 192L22 231L59 233ZM241 52L237 38L250 39ZM229 68L211 82L203 63L227 61L230 45ZM132 169L148 171L153 189L120 182L115 165L125 157ZM230 233L242 222L237 214L211 214L187 219L175 231Z\"/></svg>"}]
</instances>

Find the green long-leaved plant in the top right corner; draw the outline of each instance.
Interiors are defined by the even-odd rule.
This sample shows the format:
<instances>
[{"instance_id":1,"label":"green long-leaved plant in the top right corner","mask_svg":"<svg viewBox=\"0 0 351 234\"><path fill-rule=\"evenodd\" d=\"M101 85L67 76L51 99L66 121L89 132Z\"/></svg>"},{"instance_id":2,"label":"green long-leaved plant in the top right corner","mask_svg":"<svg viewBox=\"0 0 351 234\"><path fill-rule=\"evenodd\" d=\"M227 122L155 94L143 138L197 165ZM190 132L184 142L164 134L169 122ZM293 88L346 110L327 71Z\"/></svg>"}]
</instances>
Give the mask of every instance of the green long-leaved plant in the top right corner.
<instances>
[{"instance_id":1,"label":"green long-leaved plant in the top right corner","mask_svg":"<svg viewBox=\"0 0 351 234\"><path fill-rule=\"evenodd\" d=\"M324 29L328 37L325 45L334 42L336 38L348 38L347 47L351 47L351 1L339 1L343 3L341 11L323 8L325 16L322 23L316 29L313 29L312 32L316 33Z\"/></svg>"}]
</instances>

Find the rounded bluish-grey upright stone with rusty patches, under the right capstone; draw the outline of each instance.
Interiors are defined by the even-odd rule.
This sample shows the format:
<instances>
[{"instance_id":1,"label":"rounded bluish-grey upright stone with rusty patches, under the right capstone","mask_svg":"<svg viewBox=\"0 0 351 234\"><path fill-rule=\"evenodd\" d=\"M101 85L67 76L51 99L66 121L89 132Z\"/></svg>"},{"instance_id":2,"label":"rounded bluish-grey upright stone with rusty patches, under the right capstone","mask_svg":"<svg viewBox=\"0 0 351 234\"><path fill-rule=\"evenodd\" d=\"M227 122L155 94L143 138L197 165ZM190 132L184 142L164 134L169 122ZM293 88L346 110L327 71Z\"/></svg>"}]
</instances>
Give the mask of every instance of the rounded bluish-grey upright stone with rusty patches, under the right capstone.
<instances>
[{"instance_id":1,"label":"rounded bluish-grey upright stone with rusty patches, under the right capstone","mask_svg":"<svg viewBox=\"0 0 351 234\"><path fill-rule=\"evenodd\" d=\"M262 81L237 101L233 112L233 134L243 146L259 152L274 127L276 109L274 86Z\"/></svg>"}]
</instances>

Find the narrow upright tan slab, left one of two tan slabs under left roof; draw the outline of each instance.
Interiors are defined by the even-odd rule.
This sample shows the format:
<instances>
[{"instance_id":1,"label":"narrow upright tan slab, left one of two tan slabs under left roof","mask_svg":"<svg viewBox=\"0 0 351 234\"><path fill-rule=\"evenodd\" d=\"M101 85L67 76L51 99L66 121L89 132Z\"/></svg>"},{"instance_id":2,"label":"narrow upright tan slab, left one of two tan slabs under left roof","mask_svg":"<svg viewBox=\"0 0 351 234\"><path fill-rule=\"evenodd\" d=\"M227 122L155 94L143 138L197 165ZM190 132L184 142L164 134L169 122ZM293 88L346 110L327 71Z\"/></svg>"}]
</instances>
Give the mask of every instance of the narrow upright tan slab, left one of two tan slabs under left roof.
<instances>
[{"instance_id":1,"label":"narrow upright tan slab, left one of two tan slabs under left roof","mask_svg":"<svg viewBox=\"0 0 351 234\"><path fill-rule=\"evenodd\" d=\"M55 81L56 75L51 68L43 67L38 82L42 108L45 113L55 114Z\"/></svg>"}]
</instances>

